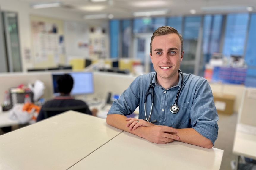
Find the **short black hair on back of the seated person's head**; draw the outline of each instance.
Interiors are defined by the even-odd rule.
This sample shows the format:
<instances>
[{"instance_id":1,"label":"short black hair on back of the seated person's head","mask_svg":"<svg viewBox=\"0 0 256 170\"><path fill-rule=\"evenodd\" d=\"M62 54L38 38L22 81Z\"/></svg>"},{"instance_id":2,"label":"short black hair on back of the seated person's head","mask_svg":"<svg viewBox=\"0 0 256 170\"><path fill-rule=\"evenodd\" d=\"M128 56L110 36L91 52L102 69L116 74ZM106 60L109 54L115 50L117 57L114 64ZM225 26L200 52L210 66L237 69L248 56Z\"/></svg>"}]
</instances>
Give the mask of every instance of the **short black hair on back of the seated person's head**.
<instances>
[{"instance_id":1,"label":"short black hair on back of the seated person's head","mask_svg":"<svg viewBox=\"0 0 256 170\"><path fill-rule=\"evenodd\" d=\"M71 75L64 74L57 80L60 93L69 94L73 88L74 80Z\"/></svg>"}]
</instances>

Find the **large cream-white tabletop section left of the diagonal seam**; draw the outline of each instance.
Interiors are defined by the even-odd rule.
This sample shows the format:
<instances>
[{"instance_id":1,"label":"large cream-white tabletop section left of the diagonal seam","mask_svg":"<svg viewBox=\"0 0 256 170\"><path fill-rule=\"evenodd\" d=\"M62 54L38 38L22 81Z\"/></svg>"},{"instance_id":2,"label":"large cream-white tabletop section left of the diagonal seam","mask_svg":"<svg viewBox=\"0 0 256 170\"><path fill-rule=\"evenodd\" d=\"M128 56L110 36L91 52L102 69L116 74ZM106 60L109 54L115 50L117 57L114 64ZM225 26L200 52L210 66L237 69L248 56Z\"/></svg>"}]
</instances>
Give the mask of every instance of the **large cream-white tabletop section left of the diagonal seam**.
<instances>
[{"instance_id":1,"label":"large cream-white tabletop section left of the diagonal seam","mask_svg":"<svg viewBox=\"0 0 256 170\"><path fill-rule=\"evenodd\" d=\"M122 131L68 111L0 136L0 169L68 169Z\"/></svg>"}]
</instances>

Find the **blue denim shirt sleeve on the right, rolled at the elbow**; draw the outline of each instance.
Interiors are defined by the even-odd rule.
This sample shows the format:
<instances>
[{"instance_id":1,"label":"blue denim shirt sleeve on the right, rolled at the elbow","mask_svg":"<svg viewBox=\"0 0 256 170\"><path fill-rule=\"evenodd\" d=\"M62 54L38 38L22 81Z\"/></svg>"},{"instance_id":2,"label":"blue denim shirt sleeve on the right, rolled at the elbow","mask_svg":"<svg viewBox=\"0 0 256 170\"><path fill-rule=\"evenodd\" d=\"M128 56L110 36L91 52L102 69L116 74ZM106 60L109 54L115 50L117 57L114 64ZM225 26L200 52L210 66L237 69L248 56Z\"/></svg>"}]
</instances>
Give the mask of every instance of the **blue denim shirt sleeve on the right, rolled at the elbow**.
<instances>
[{"instance_id":1,"label":"blue denim shirt sleeve on the right, rolled at the elbow","mask_svg":"<svg viewBox=\"0 0 256 170\"><path fill-rule=\"evenodd\" d=\"M218 137L219 120L213 101L211 87L206 79L198 83L192 108L190 109L191 125L198 133L211 140L214 144Z\"/></svg>"}]
</instances>

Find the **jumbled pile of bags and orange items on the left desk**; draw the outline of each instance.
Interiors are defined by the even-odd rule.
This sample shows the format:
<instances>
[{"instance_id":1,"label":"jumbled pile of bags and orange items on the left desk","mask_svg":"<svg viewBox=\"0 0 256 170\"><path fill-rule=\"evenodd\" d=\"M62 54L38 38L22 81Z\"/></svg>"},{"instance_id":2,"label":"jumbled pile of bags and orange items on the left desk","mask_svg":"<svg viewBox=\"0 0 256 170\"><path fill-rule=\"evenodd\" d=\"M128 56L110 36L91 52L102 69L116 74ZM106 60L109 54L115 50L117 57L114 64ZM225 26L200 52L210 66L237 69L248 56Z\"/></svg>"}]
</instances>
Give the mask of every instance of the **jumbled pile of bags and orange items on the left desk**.
<instances>
[{"instance_id":1,"label":"jumbled pile of bags and orange items on the left desk","mask_svg":"<svg viewBox=\"0 0 256 170\"><path fill-rule=\"evenodd\" d=\"M43 104L39 99L44 91L44 84L37 80L33 85L20 84L5 91L2 111L8 111L8 118L20 124L33 124Z\"/></svg>"}]
</instances>

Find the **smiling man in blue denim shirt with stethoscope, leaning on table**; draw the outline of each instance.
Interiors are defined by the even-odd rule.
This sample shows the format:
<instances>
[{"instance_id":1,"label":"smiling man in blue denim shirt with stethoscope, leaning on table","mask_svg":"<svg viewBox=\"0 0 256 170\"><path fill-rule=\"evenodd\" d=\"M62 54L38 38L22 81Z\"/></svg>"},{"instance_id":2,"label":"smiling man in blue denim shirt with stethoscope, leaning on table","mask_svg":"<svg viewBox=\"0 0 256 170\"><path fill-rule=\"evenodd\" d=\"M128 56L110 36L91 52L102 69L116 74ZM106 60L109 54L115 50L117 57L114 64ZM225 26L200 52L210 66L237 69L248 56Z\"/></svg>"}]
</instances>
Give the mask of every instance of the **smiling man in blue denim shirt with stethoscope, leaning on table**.
<instances>
[{"instance_id":1,"label":"smiling man in blue denim shirt with stethoscope, leaning on table","mask_svg":"<svg viewBox=\"0 0 256 170\"><path fill-rule=\"evenodd\" d=\"M177 30L168 26L155 30L150 57L156 74L138 76L113 102L107 123L154 143L178 140L211 148L218 135L212 91L203 77L179 73L183 54ZM137 106L139 119L127 119Z\"/></svg>"}]
</instances>

